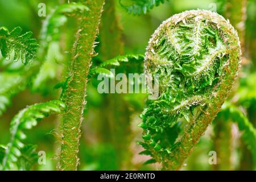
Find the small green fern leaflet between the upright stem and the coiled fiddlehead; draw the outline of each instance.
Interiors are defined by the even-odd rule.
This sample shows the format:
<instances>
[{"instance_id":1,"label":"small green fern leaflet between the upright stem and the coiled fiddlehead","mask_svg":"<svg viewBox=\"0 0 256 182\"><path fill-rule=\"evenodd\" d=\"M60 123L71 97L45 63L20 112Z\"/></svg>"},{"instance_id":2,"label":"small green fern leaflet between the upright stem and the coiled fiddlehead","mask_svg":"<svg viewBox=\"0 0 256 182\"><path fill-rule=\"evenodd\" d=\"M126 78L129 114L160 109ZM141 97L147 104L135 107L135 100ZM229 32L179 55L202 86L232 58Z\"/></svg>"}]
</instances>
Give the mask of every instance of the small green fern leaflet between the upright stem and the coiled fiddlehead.
<instances>
[{"instance_id":1,"label":"small green fern leaflet between the upright stem and the coiled fiddlehead","mask_svg":"<svg viewBox=\"0 0 256 182\"><path fill-rule=\"evenodd\" d=\"M142 61L144 60L143 55L124 55L124 56L117 56L113 59L104 61L101 63L97 68L90 69L89 76L92 77L94 75L104 75L106 77L113 77L113 73L109 70L110 68L120 67L122 63L128 64L138 64L138 69L142 71ZM141 67L141 68L139 68Z\"/></svg>"}]
</instances>

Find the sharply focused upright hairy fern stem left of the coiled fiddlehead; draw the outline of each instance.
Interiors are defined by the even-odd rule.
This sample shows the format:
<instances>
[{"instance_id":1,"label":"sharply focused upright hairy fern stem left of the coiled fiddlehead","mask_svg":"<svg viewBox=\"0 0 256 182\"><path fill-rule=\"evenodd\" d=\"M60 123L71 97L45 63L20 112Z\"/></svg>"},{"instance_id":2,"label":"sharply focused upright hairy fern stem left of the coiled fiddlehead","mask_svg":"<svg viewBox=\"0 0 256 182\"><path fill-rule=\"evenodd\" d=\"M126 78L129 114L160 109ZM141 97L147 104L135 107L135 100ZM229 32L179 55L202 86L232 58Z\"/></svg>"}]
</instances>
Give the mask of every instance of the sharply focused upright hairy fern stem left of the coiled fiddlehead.
<instances>
[{"instance_id":1,"label":"sharply focused upright hairy fern stem left of the coiled fiddlehead","mask_svg":"<svg viewBox=\"0 0 256 182\"><path fill-rule=\"evenodd\" d=\"M58 169L76 170L79 164L79 140L81 122L86 104L86 86L91 59L95 55L94 42L98 34L104 0L88 0L85 5L89 11L79 14L79 29L73 44L73 59L69 71L67 88L64 90L63 101L67 109L63 115L61 126L61 150Z\"/></svg>"}]
</instances>

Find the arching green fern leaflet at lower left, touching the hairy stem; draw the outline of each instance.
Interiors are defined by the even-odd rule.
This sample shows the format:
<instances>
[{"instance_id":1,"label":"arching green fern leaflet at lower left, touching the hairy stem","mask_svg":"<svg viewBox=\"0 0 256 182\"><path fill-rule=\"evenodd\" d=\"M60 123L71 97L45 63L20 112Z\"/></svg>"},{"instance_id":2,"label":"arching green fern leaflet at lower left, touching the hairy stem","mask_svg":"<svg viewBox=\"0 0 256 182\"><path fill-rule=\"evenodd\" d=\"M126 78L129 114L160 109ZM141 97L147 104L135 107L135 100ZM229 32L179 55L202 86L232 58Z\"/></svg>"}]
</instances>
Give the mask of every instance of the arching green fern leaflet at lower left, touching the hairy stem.
<instances>
[{"instance_id":1,"label":"arching green fern leaflet at lower left, touching the hairy stem","mask_svg":"<svg viewBox=\"0 0 256 182\"><path fill-rule=\"evenodd\" d=\"M22 140L26 138L23 130L31 129L41 119L53 113L61 113L63 109L63 102L56 100L29 106L15 115L10 124L11 138L5 151L2 168L12 169L18 157L22 155L22 148L24 147Z\"/></svg>"}]
</instances>

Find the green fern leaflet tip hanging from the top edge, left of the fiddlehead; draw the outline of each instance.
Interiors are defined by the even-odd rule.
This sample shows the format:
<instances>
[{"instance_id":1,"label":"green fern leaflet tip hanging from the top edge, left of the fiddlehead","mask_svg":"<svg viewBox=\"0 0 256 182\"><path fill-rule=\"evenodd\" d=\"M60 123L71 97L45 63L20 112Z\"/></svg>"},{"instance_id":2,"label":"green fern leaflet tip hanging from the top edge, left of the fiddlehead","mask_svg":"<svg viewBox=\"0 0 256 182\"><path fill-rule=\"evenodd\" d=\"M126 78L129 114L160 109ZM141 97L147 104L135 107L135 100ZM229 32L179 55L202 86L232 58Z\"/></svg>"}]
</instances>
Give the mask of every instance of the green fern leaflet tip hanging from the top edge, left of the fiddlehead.
<instances>
[{"instance_id":1,"label":"green fern leaflet tip hanging from the top edge, left of the fiddlehead","mask_svg":"<svg viewBox=\"0 0 256 182\"><path fill-rule=\"evenodd\" d=\"M119 0L119 3L128 13L140 15L142 13L146 14L155 6L159 6L160 3L164 3L168 0L130 0L127 2L127 5L123 4L122 1L123 0Z\"/></svg>"}]
</instances>

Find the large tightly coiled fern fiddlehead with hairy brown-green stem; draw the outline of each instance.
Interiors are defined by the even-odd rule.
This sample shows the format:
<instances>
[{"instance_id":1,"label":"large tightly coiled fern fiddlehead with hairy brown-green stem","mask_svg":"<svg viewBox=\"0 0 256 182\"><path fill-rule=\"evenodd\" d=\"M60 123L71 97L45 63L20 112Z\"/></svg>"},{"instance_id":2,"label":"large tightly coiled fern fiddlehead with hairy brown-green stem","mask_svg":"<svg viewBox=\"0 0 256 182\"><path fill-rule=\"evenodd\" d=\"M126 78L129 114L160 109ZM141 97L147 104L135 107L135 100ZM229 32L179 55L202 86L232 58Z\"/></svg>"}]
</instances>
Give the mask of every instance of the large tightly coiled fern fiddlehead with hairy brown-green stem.
<instances>
[{"instance_id":1,"label":"large tightly coiled fern fiddlehead with hairy brown-green stem","mask_svg":"<svg viewBox=\"0 0 256 182\"><path fill-rule=\"evenodd\" d=\"M217 13L185 11L155 31L144 62L146 74L159 74L160 95L141 116L144 142L139 143L146 149L142 154L152 156L148 163L179 169L237 76L241 62L237 32ZM147 82L154 82L150 78Z\"/></svg>"}]
</instances>

